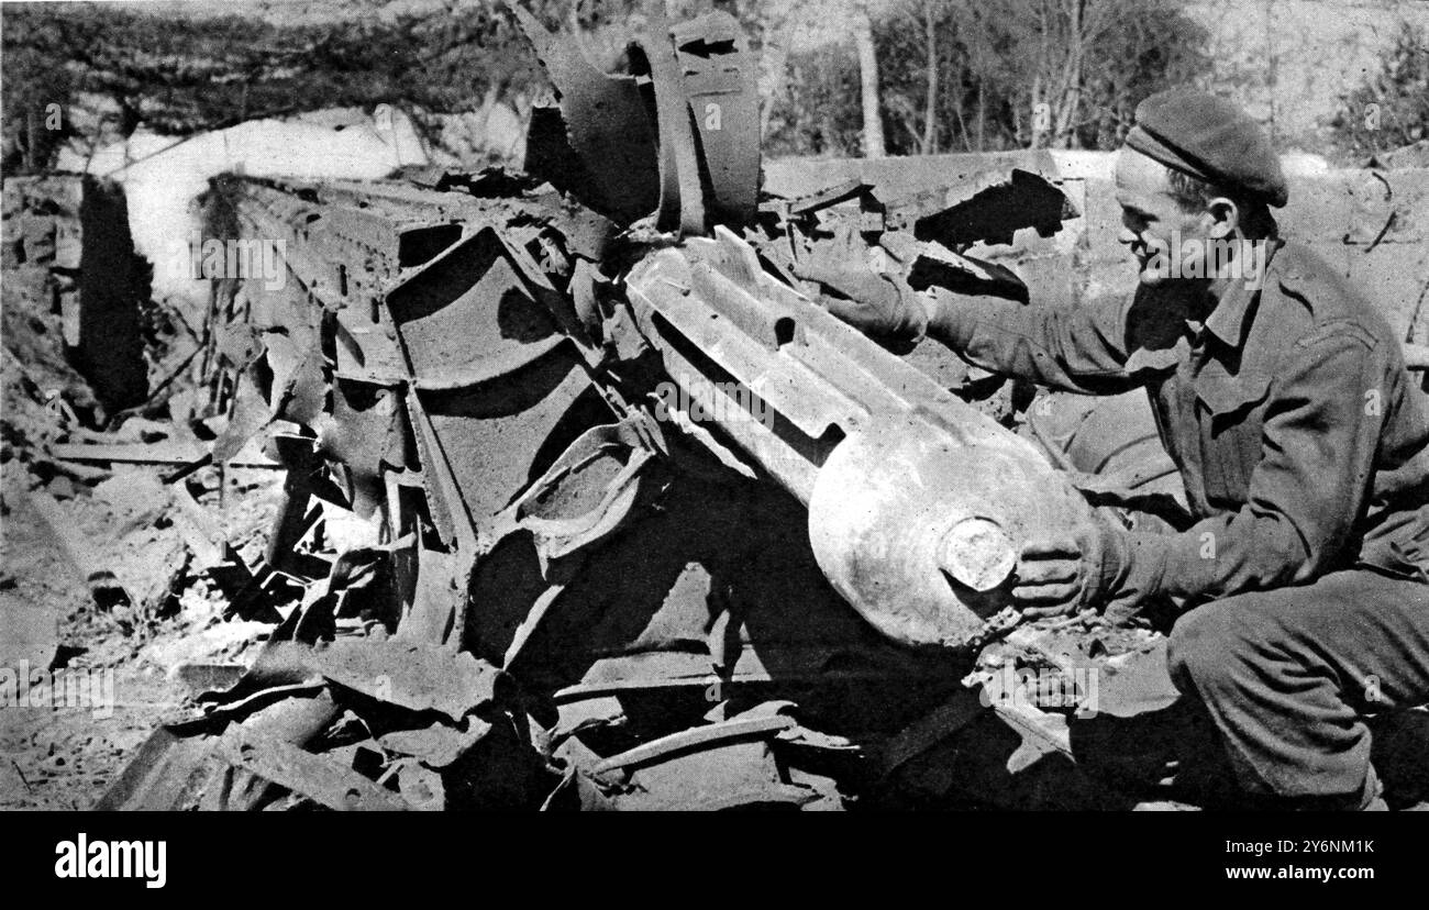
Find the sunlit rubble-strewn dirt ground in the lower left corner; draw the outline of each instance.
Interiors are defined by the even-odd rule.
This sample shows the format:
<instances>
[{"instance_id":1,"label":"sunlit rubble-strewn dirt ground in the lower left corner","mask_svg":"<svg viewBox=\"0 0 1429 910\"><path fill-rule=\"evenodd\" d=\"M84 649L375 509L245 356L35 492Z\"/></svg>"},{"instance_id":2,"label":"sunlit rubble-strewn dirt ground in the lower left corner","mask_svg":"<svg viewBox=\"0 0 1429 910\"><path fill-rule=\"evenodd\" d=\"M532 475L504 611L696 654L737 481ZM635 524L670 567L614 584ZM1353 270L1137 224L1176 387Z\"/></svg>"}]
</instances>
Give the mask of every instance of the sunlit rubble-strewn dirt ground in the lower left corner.
<instances>
[{"instance_id":1,"label":"sunlit rubble-strewn dirt ground in the lower left corner","mask_svg":"<svg viewBox=\"0 0 1429 910\"><path fill-rule=\"evenodd\" d=\"M31 657L19 660L26 660L31 680L44 680L46 669L63 670L89 680L91 697L74 704L53 687L31 686L29 704L0 709L0 809L89 809L163 720L191 713L197 691L180 679L181 669L242 663L269 626L224 620L224 597L191 576L177 579L177 611L169 616L147 604L97 606L21 484L7 471L0 541L6 651L17 650L16 629L31 631L19 636L29 637L30 649L21 653ZM107 504L60 501L87 540L110 550L140 549L114 534L121 524ZM134 554L126 566L169 571ZM53 656L43 664L47 637Z\"/></svg>"}]
</instances>

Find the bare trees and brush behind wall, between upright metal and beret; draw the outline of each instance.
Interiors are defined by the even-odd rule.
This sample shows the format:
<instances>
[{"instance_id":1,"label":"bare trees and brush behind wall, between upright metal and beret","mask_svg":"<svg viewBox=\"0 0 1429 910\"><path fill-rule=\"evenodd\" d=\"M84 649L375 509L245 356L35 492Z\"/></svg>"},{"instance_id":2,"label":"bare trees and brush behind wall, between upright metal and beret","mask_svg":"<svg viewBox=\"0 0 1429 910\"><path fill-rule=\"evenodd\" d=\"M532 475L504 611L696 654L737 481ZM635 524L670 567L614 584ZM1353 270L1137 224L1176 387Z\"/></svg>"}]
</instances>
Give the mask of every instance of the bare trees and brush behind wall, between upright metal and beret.
<instances>
[{"instance_id":1,"label":"bare trees and brush behind wall, between upright metal and beret","mask_svg":"<svg viewBox=\"0 0 1429 910\"><path fill-rule=\"evenodd\" d=\"M875 41L890 154L1112 149L1142 99L1210 64L1205 30L1170 0L902 0L875 20ZM799 90L776 111L769 147L856 154L856 134L827 129L857 119L852 49L806 51L790 67Z\"/></svg>"}]
</instances>

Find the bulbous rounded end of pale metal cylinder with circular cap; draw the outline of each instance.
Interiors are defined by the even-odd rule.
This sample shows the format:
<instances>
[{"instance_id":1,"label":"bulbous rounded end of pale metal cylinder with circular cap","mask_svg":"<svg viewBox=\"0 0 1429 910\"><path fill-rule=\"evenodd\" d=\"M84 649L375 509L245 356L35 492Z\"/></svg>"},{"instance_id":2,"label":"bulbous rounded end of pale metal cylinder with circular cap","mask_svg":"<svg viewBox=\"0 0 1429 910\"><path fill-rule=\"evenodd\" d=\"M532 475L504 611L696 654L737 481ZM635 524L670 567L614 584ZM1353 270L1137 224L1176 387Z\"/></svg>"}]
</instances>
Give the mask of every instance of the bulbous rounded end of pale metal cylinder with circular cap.
<instances>
[{"instance_id":1,"label":"bulbous rounded end of pale metal cylinder with circular cap","mask_svg":"<svg viewBox=\"0 0 1429 910\"><path fill-rule=\"evenodd\" d=\"M1010 434L967 444L912 416L839 443L809 501L809 537L829 581L910 646L973 640L1010 604L1027 540L1097 520Z\"/></svg>"}]
</instances>

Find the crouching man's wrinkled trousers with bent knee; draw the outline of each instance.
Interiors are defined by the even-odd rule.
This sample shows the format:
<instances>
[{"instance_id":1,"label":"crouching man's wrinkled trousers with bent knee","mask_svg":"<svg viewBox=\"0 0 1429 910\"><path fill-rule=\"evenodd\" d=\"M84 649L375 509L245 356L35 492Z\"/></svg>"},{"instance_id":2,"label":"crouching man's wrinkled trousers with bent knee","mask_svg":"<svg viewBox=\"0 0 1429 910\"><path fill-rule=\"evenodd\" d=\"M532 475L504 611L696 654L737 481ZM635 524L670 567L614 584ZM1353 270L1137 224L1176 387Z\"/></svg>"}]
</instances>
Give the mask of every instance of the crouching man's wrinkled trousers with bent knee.
<instances>
[{"instance_id":1,"label":"crouching man's wrinkled trousers with bent knee","mask_svg":"<svg viewBox=\"0 0 1429 910\"><path fill-rule=\"evenodd\" d=\"M1365 717L1429 703L1429 584L1353 569L1206 603L1176 620L1167 664L1243 791L1359 809L1376 786Z\"/></svg>"}]
</instances>

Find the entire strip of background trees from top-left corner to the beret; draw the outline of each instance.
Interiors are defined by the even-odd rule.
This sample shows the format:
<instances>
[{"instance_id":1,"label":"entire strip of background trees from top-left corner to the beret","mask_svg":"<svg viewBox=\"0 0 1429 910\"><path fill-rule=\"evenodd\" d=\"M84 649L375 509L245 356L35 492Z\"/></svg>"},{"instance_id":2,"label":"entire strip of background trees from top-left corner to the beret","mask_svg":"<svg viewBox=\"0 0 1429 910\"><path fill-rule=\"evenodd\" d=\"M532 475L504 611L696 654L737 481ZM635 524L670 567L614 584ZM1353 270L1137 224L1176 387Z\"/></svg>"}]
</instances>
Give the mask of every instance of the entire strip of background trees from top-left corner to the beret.
<instances>
[{"instance_id":1,"label":"entire strip of background trees from top-left corner to the beret","mask_svg":"<svg viewBox=\"0 0 1429 910\"><path fill-rule=\"evenodd\" d=\"M579 27L604 64L642 21L642 0L523 4L550 27ZM820 7L816 0L670 3L677 17L730 11L750 34L762 54L769 154L859 154L853 47L835 40L795 50L795 36L820 21ZM1170 0L896 0L873 9L882 126L893 154L1112 147L1142 97L1206 66L1203 33ZM499 96L532 97L544 86L496 3L289 26L7 3L3 76L7 173L43 169L57 144L80 131L69 116L60 130L37 129L49 104L69 114L99 99L111 133L127 136L144 123L189 134L377 103L459 113ZM1046 130L1033 119L1039 103L1052 110ZM81 131L96 139L93 124Z\"/></svg>"}]
</instances>

